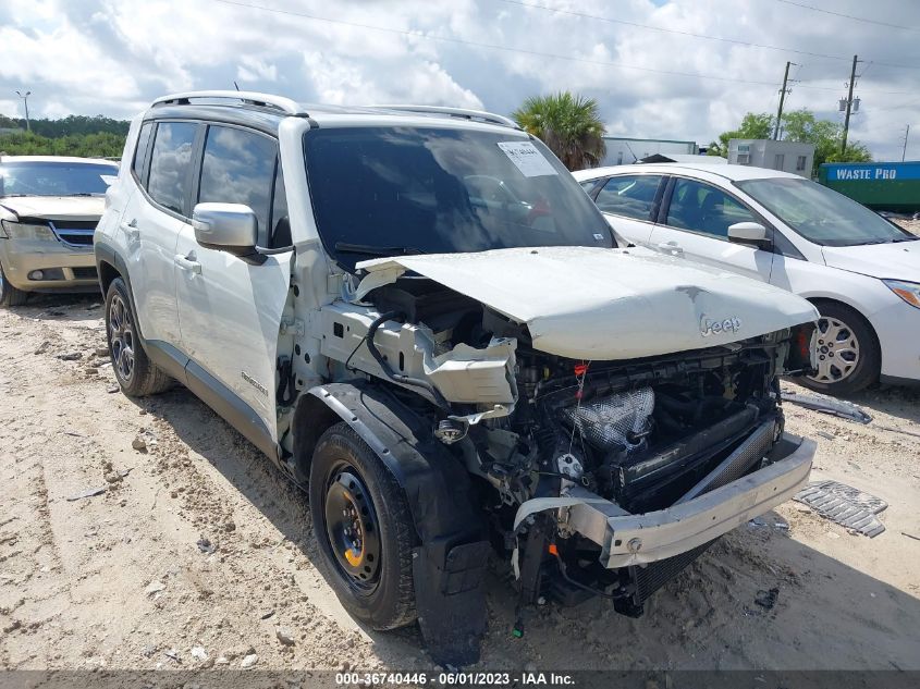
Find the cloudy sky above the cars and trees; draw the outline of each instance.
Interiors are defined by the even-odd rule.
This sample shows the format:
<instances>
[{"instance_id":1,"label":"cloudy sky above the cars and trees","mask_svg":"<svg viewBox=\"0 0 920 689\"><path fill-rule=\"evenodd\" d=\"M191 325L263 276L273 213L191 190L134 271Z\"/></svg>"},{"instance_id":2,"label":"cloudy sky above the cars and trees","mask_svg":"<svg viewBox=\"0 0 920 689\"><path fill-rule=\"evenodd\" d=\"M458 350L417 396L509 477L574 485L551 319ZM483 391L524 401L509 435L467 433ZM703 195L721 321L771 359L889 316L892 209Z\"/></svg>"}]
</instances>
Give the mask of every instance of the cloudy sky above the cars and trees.
<instances>
[{"instance_id":1,"label":"cloudy sky above the cars and trees","mask_svg":"<svg viewBox=\"0 0 920 689\"><path fill-rule=\"evenodd\" d=\"M846 16L850 15L850 16ZM126 118L165 93L510 113L527 96L598 99L609 134L707 143L747 111L842 118L876 159L920 159L917 0L2 0L0 113Z\"/></svg>"}]
</instances>

